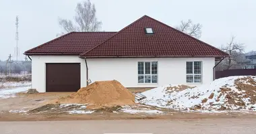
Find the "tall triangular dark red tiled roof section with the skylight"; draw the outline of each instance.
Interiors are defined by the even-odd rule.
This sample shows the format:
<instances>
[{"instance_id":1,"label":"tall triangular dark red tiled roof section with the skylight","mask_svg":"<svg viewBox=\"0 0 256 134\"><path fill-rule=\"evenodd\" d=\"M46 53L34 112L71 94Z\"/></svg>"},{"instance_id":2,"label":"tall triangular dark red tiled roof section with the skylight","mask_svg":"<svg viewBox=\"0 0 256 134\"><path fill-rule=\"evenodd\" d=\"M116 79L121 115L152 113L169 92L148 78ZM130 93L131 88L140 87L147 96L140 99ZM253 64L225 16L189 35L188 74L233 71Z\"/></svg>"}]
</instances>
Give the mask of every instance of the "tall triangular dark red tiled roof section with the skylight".
<instances>
[{"instance_id":1,"label":"tall triangular dark red tiled roof section with the skylight","mask_svg":"<svg viewBox=\"0 0 256 134\"><path fill-rule=\"evenodd\" d=\"M154 34L146 35L146 27L152 27ZM221 57L228 54L145 15L80 56L87 58Z\"/></svg>"}]
</instances>

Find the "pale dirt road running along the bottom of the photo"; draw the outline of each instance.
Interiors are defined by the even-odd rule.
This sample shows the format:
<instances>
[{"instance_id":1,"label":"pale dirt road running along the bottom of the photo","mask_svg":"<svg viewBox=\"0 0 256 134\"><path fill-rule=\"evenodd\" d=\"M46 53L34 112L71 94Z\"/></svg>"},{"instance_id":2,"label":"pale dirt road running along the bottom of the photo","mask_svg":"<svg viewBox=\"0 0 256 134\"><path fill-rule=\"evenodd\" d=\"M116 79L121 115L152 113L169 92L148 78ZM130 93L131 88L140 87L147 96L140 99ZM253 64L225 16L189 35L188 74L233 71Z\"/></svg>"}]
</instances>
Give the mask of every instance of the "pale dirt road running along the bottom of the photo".
<instances>
[{"instance_id":1,"label":"pale dirt road running along the bottom of the photo","mask_svg":"<svg viewBox=\"0 0 256 134\"><path fill-rule=\"evenodd\" d=\"M255 119L0 122L6 134L255 133Z\"/></svg>"}]
</instances>

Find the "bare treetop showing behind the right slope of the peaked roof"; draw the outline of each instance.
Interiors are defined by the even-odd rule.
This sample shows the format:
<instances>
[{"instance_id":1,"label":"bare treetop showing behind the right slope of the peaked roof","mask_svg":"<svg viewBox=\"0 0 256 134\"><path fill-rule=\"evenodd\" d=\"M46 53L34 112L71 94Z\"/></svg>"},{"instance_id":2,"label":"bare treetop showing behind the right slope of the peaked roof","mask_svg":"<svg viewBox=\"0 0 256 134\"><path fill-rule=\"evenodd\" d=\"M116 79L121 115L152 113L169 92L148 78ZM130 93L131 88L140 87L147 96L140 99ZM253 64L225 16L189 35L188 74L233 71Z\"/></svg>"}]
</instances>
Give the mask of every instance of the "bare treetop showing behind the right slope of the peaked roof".
<instances>
[{"instance_id":1,"label":"bare treetop showing behind the right slope of the peaked roof","mask_svg":"<svg viewBox=\"0 0 256 134\"><path fill-rule=\"evenodd\" d=\"M194 24L191 19L188 19L187 21L181 21L181 24L176 27L179 31L182 31L185 34L188 34L189 36L192 36L194 38L201 38L201 28L203 25L200 23Z\"/></svg>"}]
</instances>

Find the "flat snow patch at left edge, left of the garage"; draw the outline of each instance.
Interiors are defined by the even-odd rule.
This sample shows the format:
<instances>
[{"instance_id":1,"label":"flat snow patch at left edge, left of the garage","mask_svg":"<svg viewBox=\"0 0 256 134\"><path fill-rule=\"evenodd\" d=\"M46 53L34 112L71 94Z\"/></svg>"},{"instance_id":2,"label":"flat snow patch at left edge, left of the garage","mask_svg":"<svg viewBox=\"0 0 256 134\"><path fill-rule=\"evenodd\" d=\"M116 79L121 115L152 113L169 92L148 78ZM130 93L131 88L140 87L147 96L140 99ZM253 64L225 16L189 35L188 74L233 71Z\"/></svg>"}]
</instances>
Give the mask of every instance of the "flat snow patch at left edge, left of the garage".
<instances>
[{"instance_id":1,"label":"flat snow patch at left edge, left of the garage","mask_svg":"<svg viewBox=\"0 0 256 134\"><path fill-rule=\"evenodd\" d=\"M0 90L0 99L1 98L13 98L15 97L18 92L26 92L30 88L29 86L26 87L19 87L19 88L4 88Z\"/></svg>"}]
</instances>

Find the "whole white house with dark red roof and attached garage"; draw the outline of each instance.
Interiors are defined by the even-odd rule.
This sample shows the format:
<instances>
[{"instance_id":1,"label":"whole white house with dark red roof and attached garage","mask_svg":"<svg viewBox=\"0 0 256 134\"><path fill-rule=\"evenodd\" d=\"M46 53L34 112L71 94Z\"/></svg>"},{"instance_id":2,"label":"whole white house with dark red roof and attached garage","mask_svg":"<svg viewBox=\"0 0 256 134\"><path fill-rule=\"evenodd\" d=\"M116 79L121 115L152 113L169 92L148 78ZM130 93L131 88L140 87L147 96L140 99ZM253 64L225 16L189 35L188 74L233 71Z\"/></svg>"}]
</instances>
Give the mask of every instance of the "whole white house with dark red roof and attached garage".
<instances>
[{"instance_id":1,"label":"whole white house with dark red roof and attached garage","mask_svg":"<svg viewBox=\"0 0 256 134\"><path fill-rule=\"evenodd\" d=\"M32 88L77 91L88 80L118 80L127 88L203 84L228 56L147 15L118 32L71 32L25 52Z\"/></svg>"}]
</instances>

